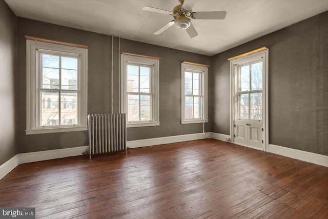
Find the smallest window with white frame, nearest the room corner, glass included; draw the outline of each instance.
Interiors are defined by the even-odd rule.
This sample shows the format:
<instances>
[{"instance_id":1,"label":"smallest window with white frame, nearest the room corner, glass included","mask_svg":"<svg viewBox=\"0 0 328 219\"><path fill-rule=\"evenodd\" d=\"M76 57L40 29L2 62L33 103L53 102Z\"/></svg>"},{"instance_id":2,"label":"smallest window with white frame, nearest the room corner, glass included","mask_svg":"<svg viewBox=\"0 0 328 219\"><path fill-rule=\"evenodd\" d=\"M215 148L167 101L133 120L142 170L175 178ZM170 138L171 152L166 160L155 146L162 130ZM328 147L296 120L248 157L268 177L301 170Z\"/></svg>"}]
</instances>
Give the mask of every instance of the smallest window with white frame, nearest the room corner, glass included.
<instances>
[{"instance_id":1,"label":"smallest window with white frame, nearest the room corner, glass included","mask_svg":"<svg viewBox=\"0 0 328 219\"><path fill-rule=\"evenodd\" d=\"M208 67L181 64L181 124L208 122Z\"/></svg>"}]
</instances>

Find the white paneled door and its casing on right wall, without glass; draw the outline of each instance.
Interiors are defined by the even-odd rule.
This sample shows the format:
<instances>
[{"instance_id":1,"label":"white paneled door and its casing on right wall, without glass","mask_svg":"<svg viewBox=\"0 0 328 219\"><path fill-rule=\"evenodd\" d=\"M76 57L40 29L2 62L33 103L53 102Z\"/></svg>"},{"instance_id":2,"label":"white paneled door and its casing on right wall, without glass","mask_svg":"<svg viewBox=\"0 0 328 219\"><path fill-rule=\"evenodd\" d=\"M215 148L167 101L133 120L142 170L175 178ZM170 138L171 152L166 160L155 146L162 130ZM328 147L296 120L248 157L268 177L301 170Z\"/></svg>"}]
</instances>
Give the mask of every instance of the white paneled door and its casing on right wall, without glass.
<instances>
[{"instance_id":1,"label":"white paneled door and its casing on right wall, without glass","mask_svg":"<svg viewBox=\"0 0 328 219\"><path fill-rule=\"evenodd\" d=\"M269 104L268 104L268 55L266 49L230 62L230 137L231 142L246 147L267 151L269 145ZM262 120L237 119L238 107L238 68L242 65L262 61ZM249 95L250 96L250 95ZM239 100L240 101L240 100Z\"/></svg>"}]
</instances>

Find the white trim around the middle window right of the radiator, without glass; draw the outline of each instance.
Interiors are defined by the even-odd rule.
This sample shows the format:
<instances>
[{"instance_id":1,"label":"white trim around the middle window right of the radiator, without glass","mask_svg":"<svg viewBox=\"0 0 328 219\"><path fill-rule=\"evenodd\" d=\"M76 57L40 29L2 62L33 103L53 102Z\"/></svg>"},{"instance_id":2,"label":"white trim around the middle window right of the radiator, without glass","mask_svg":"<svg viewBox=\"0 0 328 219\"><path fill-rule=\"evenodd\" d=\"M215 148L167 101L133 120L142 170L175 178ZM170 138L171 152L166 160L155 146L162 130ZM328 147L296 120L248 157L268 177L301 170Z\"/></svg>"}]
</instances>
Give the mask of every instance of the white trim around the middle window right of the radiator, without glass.
<instances>
[{"instance_id":1,"label":"white trim around the middle window right of the radiator, without glass","mask_svg":"<svg viewBox=\"0 0 328 219\"><path fill-rule=\"evenodd\" d=\"M121 54L121 109L122 112L128 113L128 101L127 101L127 65L141 64L151 65L152 68L152 118L151 121L141 122L128 122L127 128L132 127L146 127L146 126L159 126L159 60L153 58L139 57L133 55Z\"/></svg>"}]
</instances>

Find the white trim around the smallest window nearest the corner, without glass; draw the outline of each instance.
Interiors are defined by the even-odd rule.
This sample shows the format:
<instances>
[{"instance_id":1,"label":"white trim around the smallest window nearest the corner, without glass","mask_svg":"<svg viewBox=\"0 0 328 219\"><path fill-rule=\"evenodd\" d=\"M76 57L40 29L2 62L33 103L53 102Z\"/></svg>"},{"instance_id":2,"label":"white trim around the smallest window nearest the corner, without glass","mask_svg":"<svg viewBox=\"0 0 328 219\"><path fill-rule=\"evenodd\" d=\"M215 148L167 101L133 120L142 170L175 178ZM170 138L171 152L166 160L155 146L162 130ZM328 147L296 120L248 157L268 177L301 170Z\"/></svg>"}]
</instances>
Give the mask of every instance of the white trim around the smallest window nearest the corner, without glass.
<instances>
[{"instance_id":1,"label":"white trim around the smallest window nearest the corner, without glass","mask_svg":"<svg viewBox=\"0 0 328 219\"><path fill-rule=\"evenodd\" d=\"M202 72L201 74L201 90L203 93L202 104L202 118L201 119L186 119L185 118L185 70L194 70ZM181 63L181 124L193 124L193 123L208 123L208 67L196 66L186 63Z\"/></svg>"}]
</instances>

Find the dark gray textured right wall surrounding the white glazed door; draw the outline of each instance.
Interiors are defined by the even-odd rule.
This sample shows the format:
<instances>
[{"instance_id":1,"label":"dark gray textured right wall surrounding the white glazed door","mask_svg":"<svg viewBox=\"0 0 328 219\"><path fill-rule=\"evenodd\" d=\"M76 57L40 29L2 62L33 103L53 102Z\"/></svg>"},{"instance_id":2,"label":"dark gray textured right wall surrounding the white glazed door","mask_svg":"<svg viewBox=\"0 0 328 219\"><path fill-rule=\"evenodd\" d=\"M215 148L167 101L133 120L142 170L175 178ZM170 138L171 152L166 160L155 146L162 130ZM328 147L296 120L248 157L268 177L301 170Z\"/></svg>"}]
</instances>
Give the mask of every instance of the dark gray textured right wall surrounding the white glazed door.
<instances>
[{"instance_id":1,"label":"dark gray textured right wall surrounding the white glazed door","mask_svg":"<svg viewBox=\"0 0 328 219\"><path fill-rule=\"evenodd\" d=\"M328 155L328 11L213 56L213 128L230 134L227 58L269 48L269 143Z\"/></svg>"}]
</instances>

